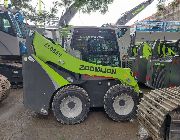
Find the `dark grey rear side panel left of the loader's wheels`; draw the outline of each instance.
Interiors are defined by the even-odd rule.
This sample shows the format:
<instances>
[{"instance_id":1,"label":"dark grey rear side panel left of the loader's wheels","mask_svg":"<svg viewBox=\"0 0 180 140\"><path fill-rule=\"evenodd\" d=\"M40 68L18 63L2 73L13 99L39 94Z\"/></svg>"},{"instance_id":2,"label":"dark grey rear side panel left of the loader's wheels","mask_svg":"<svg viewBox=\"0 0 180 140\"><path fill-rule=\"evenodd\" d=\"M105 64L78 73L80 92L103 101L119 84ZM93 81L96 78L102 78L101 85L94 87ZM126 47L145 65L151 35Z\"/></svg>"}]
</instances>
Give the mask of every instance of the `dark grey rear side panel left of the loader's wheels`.
<instances>
[{"instance_id":1,"label":"dark grey rear side panel left of the loader's wheels","mask_svg":"<svg viewBox=\"0 0 180 140\"><path fill-rule=\"evenodd\" d=\"M27 61L26 61L27 60ZM47 115L53 93L53 82L36 61L23 58L24 105L37 113Z\"/></svg>"}]
</instances>

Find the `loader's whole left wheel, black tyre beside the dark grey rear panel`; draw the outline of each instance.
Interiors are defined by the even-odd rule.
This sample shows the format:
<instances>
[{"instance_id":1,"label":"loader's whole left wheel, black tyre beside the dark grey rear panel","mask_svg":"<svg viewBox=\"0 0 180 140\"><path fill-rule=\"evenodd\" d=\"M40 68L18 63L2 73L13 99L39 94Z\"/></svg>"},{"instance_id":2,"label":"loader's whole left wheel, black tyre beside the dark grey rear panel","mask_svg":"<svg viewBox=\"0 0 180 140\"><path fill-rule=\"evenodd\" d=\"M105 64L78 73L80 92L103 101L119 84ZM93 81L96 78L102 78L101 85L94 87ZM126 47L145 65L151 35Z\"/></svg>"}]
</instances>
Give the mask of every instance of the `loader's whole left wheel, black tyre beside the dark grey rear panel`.
<instances>
[{"instance_id":1,"label":"loader's whole left wheel, black tyre beside the dark grey rear panel","mask_svg":"<svg viewBox=\"0 0 180 140\"><path fill-rule=\"evenodd\" d=\"M63 124L82 122L87 117L89 108L90 99L87 92L75 85L60 89L52 102L54 116Z\"/></svg>"}]
</instances>

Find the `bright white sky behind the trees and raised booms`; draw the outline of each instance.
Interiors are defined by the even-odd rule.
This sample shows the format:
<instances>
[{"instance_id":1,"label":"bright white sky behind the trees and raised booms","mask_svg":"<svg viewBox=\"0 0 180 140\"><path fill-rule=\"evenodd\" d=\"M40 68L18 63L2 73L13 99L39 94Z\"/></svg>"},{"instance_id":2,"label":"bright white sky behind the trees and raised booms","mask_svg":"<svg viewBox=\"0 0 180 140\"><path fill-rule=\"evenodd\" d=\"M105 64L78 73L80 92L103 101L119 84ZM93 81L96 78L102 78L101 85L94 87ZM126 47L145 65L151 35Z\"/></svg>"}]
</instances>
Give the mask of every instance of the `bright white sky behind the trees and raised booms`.
<instances>
[{"instance_id":1,"label":"bright white sky behind the trees and raised booms","mask_svg":"<svg viewBox=\"0 0 180 140\"><path fill-rule=\"evenodd\" d=\"M0 0L1 2L3 0ZM32 4L35 7L37 5L38 0L32 0ZM42 0L45 3L46 10L52 6L53 0ZM116 21L120 18L120 15L128 10L131 10L138 4L144 2L146 0L114 0L112 4L109 5L109 10L106 14L102 15L99 12L92 12L91 14L83 14L82 12L78 12L74 18L71 20L70 25L74 26L101 26L106 23L116 23ZM166 0L167 3L173 0ZM157 8L156 5L158 0L154 0L154 2L146 7L142 12L140 12L135 18L133 18L126 25L132 25L136 21L140 21L146 17L151 16L156 13ZM58 17L62 15L62 10L59 10Z\"/></svg>"}]
</instances>

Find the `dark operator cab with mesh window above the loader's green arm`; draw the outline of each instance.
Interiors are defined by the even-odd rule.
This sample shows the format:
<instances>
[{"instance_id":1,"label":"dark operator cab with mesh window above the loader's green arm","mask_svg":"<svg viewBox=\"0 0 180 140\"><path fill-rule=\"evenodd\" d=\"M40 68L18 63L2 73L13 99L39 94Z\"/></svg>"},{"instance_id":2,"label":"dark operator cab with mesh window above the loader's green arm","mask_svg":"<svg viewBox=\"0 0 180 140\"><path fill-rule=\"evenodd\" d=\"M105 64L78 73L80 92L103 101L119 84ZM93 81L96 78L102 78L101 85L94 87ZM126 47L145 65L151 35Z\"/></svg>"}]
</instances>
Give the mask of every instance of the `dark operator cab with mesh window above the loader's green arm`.
<instances>
[{"instance_id":1,"label":"dark operator cab with mesh window above the loader's green arm","mask_svg":"<svg viewBox=\"0 0 180 140\"><path fill-rule=\"evenodd\" d=\"M74 27L70 46L72 50L80 52L84 61L119 67L121 50L128 47L122 43L123 37L128 34L127 31L128 28L125 27Z\"/></svg>"}]
</instances>

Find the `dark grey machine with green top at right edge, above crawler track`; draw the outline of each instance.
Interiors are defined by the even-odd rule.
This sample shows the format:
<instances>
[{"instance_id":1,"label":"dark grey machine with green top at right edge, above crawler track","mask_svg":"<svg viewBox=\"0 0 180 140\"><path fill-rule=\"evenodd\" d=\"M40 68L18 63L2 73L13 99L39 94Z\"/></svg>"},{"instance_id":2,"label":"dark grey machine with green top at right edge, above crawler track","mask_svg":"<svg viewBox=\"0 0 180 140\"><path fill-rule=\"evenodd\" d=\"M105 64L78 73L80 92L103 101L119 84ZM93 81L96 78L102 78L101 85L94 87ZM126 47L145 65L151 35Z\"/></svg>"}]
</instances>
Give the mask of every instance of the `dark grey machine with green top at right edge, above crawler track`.
<instances>
[{"instance_id":1,"label":"dark grey machine with green top at right edge, above crawler track","mask_svg":"<svg viewBox=\"0 0 180 140\"><path fill-rule=\"evenodd\" d=\"M180 40L174 43L166 43L166 46L164 43L158 46L159 57L148 61L146 85L151 88L180 85Z\"/></svg>"}]
</instances>

